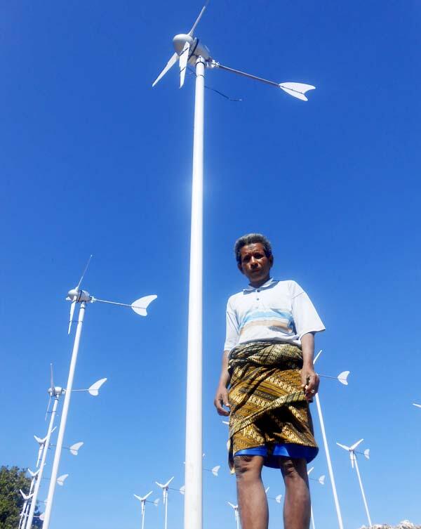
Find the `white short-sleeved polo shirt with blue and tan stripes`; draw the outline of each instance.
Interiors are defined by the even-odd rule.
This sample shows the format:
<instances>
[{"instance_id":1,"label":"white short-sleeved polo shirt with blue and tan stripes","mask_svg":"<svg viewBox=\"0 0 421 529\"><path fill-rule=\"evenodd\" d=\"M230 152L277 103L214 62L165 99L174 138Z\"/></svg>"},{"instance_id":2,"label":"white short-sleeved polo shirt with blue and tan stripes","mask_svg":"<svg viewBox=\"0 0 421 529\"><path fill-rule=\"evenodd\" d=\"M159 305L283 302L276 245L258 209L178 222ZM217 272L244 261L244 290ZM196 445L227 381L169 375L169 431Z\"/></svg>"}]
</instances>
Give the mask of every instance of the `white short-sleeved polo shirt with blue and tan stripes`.
<instances>
[{"instance_id":1,"label":"white short-sleeved polo shirt with blue and tan stripes","mask_svg":"<svg viewBox=\"0 0 421 529\"><path fill-rule=\"evenodd\" d=\"M229 298L224 351L261 340L301 346L304 334L324 329L312 301L297 282L271 278L259 288L249 286Z\"/></svg>"}]
</instances>

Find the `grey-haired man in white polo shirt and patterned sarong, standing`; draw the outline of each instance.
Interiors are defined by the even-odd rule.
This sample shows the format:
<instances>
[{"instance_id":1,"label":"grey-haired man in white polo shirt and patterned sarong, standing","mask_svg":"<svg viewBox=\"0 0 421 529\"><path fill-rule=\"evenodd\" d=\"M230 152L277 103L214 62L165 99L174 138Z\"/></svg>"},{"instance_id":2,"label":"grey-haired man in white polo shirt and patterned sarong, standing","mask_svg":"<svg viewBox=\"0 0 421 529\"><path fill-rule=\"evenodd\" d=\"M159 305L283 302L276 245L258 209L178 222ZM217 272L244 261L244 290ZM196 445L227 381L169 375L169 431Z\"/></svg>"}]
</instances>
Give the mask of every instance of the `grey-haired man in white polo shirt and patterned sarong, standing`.
<instances>
[{"instance_id":1,"label":"grey-haired man in white polo shirt and patterned sarong, standing","mask_svg":"<svg viewBox=\"0 0 421 529\"><path fill-rule=\"evenodd\" d=\"M309 414L309 402L319 388L314 333L325 327L295 281L270 277L274 257L266 237L244 235L234 252L249 286L227 303L227 337L214 404L220 415L229 415L229 461L236 474L241 527L267 529L261 478L265 465L281 469L284 528L308 529L307 463L319 450Z\"/></svg>"}]
</instances>

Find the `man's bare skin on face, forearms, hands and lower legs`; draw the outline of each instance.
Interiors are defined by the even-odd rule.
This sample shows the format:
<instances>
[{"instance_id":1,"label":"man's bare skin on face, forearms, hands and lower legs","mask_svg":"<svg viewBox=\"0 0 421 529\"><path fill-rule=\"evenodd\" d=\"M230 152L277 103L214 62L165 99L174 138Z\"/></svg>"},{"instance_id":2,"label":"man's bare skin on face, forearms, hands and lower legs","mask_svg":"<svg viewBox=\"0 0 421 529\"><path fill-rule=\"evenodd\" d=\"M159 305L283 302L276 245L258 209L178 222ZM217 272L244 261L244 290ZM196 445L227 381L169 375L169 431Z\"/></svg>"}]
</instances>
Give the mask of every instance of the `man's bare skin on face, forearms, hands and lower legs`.
<instances>
[{"instance_id":1,"label":"man's bare skin on face, forearms, hands and lower legs","mask_svg":"<svg viewBox=\"0 0 421 529\"><path fill-rule=\"evenodd\" d=\"M241 263L238 267L246 275L252 287L261 287L269 280L269 273L274 263L273 256L265 255L263 244L256 242L243 246L240 250ZM301 339L303 365L301 370L302 391L311 401L319 388L319 376L314 372L314 334L305 334ZM228 390L228 355L222 355L222 370L215 395L214 404L220 415L229 415ZM267 529L269 511L267 497L262 483L263 457L236 456L234 468L236 473L237 495L239 499L241 527L243 529ZM279 457L279 468L285 483L285 501L283 504L284 529L308 529L310 523L310 494L305 459Z\"/></svg>"}]
</instances>

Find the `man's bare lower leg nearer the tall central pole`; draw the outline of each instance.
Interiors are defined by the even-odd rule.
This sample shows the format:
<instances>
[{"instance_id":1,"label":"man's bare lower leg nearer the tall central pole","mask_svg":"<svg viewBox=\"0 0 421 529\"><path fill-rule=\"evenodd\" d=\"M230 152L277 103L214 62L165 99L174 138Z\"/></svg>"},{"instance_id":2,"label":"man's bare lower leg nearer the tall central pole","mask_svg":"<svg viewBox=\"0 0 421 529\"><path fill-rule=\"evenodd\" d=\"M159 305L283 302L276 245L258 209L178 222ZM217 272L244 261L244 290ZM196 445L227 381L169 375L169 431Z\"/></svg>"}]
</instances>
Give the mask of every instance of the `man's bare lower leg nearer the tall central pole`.
<instances>
[{"instance_id":1,"label":"man's bare lower leg nearer the tall central pole","mask_svg":"<svg viewBox=\"0 0 421 529\"><path fill-rule=\"evenodd\" d=\"M262 466L263 457L260 455L234 456L242 529L267 529L269 523Z\"/></svg>"}]
</instances>

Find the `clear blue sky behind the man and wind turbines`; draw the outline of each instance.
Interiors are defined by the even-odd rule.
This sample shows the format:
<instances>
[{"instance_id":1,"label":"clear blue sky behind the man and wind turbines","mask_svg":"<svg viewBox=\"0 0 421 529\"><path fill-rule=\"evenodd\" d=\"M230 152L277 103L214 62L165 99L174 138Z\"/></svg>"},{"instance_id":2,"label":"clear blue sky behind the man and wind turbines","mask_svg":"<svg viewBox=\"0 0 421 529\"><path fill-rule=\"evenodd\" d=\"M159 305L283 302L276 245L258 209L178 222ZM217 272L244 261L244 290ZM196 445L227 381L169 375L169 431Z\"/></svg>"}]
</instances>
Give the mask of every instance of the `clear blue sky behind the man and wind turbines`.
<instances>
[{"instance_id":1,"label":"clear blue sky behind the man and wind turbines","mask_svg":"<svg viewBox=\"0 0 421 529\"><path fill-rule=\"evenodd\" d=\"M53 529L135 529L133 493L184 482L193 77L152 89L201 8L185 2L6 2L0 7L1 464L33 467L46 431L49 364L65 386L68 289L131 302L148 318L88 306ZM363 437L373 522L420 523L420 5L415 1L213 0L197 35L240 70L302 81L309 102L208 71L204 213L204 528L234 528L227 431L213 410L227 297L244 286L232 246L265 233L274 277L307 290L325 323L321 402L347 529L366 523L356 475L335 441ZM319 423L316 436L321 443ZM50 472L52 457L46 469ZM314 476L328 474L321 454ZM281 476L265 472L269 495ZM314 485L314 486L313 486ZM47 483L41 492L46 497ZM335 529L330 483L312 483L316 528ZM168 529L182 527L170 495ZM147 529L163 509L147 506ZM270 502L270 528L281 506Z\"/></svg>"}]
</instances>

